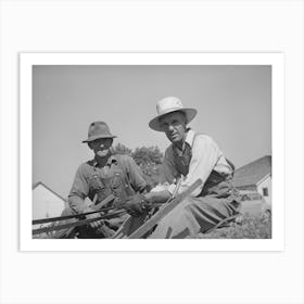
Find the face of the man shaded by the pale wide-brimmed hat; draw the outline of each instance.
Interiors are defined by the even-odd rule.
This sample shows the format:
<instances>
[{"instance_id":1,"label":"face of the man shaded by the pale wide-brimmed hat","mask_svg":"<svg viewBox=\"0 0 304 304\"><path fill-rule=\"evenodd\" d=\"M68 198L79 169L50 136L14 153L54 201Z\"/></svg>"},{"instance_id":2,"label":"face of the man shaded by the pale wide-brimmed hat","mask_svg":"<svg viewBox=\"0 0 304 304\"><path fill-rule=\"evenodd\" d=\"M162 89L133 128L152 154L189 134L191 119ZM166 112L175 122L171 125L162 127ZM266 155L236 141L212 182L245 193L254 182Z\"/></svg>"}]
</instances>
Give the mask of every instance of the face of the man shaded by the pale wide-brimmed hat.
<instances>
[{"instance_id":1,"label":"face of the man shaded by the pale wide-brimmed hat","mask_svg":"<svg viewBox=\"0 0 304 304\"><path fill-rule=\"evenodd\" d=\"M168 140L174 144L180 143L186 137L186 116L182 112L173 112L160 119L161 127Z\"/></svg>"}]
</instances>

